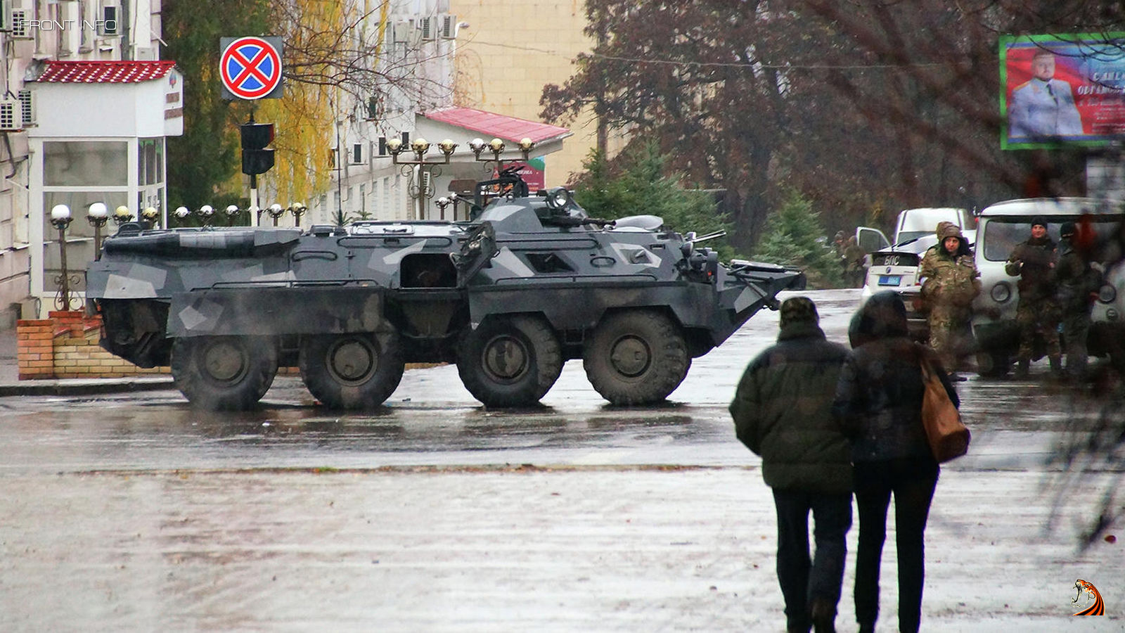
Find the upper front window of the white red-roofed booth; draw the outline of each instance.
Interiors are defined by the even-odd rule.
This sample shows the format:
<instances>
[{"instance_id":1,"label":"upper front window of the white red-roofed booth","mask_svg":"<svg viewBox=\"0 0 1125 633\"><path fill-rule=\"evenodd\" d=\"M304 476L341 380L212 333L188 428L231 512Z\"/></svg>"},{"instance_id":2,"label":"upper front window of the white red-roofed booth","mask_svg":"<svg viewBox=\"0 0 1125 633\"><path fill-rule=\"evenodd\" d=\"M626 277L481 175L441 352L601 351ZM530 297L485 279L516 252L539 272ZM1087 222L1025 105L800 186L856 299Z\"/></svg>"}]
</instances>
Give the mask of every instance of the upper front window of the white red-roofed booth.
<instances>
[{"instance_id":1,"label":"upper front window of the white red-roofed booth","mask_svg":"<svg viewBox=\"0 0 1125 633\"><path fill-rule=\"evenodd\" d=\"M128 185L125 141L45 141L43 185L46 187L112 187Z\"/></svg>"}]
</instances>

